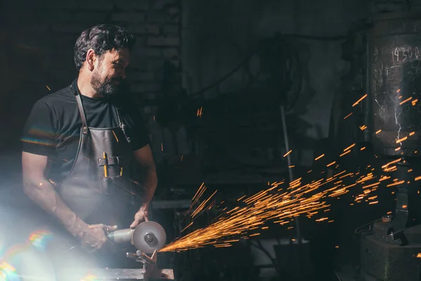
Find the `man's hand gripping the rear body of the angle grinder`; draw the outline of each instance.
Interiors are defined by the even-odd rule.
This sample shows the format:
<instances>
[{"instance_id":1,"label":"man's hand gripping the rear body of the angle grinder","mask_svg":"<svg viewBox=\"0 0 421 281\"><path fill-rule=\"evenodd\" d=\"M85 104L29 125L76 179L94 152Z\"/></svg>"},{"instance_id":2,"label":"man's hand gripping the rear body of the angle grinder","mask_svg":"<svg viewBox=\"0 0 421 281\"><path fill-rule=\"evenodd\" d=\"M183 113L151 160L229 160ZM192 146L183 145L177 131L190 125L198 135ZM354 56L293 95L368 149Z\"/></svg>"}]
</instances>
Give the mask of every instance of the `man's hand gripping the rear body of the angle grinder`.
<instances>
[{"instance_id":1,"label":"man's hand gripping the rear body of the angle grinder","mask_svg":"<svg viewBox=\"0 0 421 281\"><path fill-rule=\"evenodd\" d=\"M81 235L82 247L91 251L100 249L107 242L107 232L114 231L117 226L105 226L104 224L89 225Z\"/></svg>"}]
</instances>

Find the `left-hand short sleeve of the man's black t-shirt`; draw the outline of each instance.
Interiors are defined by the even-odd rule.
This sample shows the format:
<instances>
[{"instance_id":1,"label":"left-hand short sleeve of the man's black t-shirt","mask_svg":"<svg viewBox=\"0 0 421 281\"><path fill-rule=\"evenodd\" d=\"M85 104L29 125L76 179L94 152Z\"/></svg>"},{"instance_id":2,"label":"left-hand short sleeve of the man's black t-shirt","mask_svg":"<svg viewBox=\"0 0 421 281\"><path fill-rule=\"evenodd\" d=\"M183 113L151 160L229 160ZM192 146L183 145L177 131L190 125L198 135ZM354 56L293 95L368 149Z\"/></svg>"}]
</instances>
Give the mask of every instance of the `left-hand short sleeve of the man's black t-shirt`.
<instances>
[{"instance_id":1,"label":"left-hand short sleeve of the man's black t-shirt","mask_svg":"<svg viewBox=\"0 0 421 281\"><path fill-rule=\"evenodd\" d=\"M55 115L53 109L41 100L32 107L22 133L22 151L36 155L55 152Z\"/></svg>"}]
</instances>

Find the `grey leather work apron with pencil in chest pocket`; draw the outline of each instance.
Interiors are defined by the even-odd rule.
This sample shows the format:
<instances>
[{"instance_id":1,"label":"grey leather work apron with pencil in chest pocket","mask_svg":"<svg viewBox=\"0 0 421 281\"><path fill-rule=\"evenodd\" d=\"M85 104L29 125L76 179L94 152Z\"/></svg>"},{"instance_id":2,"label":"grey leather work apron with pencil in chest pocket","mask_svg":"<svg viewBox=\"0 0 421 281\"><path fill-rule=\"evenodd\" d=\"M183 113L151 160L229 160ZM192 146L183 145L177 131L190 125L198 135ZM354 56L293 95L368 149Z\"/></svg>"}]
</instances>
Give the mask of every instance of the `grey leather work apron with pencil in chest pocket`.
<instances>
[{"instance_id":1,"label":"grey leather work apron with pencil in chest pocket","mask_svg":"<svg viewBox=\"0 0 421 281\"><path fill-rule=\"evenodd\" d=\"M56 186L65 204L88 224L126 228L131 190L131 139L126 135L119 108L119 126L88 126L80 94L72 84L82 126L79 146L69 175ZM133 214L129 215L130 218ZM126 220L124 219L126 218ZM130 221L130 220L129 220ZM124 225L123 225L124 224Z\"/></svg>"}]
</instances>

